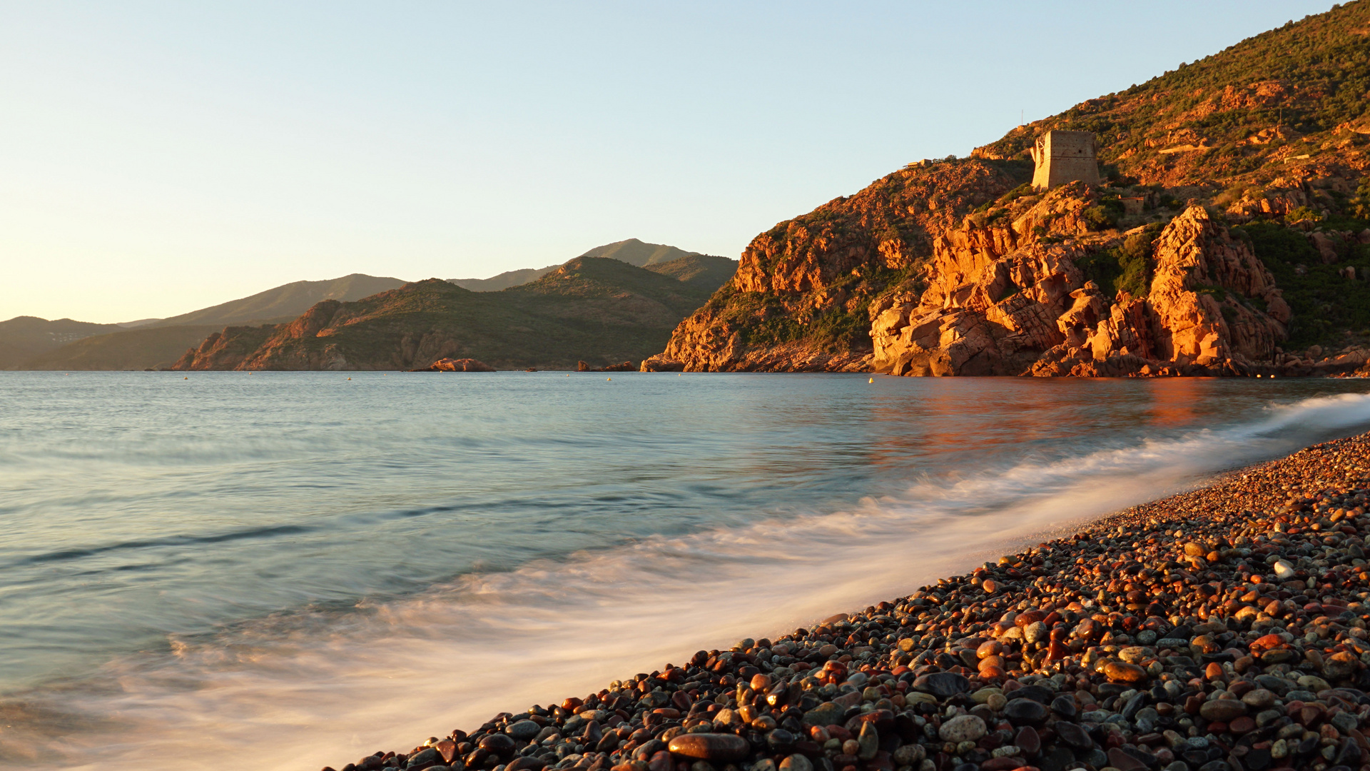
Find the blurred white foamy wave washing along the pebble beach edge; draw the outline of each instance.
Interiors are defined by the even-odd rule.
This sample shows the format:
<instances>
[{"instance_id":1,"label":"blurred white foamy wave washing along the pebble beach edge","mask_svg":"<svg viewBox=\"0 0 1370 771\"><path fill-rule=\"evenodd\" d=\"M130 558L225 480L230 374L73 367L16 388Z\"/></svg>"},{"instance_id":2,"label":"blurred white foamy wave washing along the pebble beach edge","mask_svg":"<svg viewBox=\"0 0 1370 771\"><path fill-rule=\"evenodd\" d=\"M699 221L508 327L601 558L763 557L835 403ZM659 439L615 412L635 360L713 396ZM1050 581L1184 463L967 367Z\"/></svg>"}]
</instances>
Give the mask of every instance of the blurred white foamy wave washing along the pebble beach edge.
<instances>
[{"instance_id":1,"label":"blurred white foamy wave washing along the pebble beach edge","mask_svg":"<svg viewBox=\"0 0 1370 771\"><path fill-rule=\"evenodd\" d=\"M1370 396L964 479L849 510L651 536L418 595L171 638L0 708L0 761L299 768L407 749L741 635L907 594L1025 539L1370 425Z\"/></svg>"}]
</instances>

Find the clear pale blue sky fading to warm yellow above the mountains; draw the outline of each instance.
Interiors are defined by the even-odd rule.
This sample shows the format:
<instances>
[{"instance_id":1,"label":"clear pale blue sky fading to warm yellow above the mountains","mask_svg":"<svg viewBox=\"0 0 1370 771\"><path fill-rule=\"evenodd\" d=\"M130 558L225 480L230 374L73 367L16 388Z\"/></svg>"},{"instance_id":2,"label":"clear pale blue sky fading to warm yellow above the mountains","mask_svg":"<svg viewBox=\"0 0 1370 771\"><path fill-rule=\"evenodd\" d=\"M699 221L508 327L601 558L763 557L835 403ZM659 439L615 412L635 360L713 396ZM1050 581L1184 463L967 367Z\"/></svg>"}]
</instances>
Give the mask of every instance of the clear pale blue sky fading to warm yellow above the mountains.
<instances>
[{"instance_id":1,"label":"clear pale blue sky fading to warm yellow above the mountains","mask_svg":"<svg viewBox=\"0 0 1370 771\"><path fill-rule=\"evenodd\" d=\"M0 318L166 317L637 237L737 258L1304 0L0 0Z\"/></svg>"}]
</instances>

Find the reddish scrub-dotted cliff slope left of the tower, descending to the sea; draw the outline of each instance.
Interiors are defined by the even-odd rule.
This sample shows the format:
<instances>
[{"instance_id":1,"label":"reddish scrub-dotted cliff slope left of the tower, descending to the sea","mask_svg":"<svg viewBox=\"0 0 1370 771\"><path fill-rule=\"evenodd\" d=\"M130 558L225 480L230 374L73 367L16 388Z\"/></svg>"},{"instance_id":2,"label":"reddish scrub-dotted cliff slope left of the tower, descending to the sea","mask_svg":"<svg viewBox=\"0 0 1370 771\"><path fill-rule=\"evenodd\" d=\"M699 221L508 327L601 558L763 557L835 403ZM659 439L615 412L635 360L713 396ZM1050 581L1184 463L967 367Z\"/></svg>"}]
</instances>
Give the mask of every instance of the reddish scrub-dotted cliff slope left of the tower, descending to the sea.
<instances>
[{"instance_id":1,"label":"reddish scrub-dotted cliff slope left of the tower, descending to the sea","mask_svg":"<svg viewBox=\"0 0 1370 771\"><path fill-rule=\"evenodd\" d=\"M908 280L966 214L1029 178L1032 165L1015 161L910 166L781 222L752 240L733 280L647 366L866 369L871 302Z\"/></svg>"}]
</instances>

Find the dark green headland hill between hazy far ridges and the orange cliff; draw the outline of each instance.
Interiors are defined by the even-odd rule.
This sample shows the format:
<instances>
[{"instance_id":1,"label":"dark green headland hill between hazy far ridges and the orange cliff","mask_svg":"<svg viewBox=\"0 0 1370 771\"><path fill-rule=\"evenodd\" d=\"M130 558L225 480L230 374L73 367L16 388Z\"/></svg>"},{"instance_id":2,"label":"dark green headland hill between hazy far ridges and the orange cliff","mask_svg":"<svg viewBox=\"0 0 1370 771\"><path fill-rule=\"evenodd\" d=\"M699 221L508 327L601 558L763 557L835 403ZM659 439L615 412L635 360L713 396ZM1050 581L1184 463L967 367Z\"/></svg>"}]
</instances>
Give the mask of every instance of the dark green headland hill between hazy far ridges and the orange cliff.
<instances>
[{"instance_id":1,"label":"dark green headland hill between hazy far ridges and the orange cliff","mask_svg":"<svg viewBox=\"0 0 1370 771\"><path fill-rule=\"evenodd\" d=\"M415 369L440 358L574 369L578 361L638 361L727 280L717 259L686 254L649 270L578 257L499 292L429 278L360 300L325 300L288 324L225 328L175 369Z\"/></svg>"}]
</instances>

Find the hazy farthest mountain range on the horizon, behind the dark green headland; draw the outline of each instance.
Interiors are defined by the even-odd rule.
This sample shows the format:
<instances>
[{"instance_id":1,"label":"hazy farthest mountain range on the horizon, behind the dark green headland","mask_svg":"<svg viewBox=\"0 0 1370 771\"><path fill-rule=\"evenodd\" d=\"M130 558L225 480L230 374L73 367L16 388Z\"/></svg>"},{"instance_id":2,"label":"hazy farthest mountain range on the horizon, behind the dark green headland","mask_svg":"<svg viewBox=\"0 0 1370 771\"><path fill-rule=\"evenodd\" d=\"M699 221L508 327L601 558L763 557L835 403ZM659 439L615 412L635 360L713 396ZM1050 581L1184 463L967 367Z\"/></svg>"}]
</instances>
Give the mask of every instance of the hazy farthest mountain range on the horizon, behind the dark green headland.
<instances>
[{"instance_id":1,"label":"hazy farthest mountain range on the horizon, behind the dark green headland","mask_svg":"<svg viewBox=\"0 0 1370 771\"><path fill-rule=\"evenodd\" d=\"M737 268L737 261L733 259L700 255L664 244L648 244L637 239L596 247L582 257L606 255L633 266L652 266L651 273L693 288L708 287L710 292L726 283ZM496 292L537 281L558 268L560 266L511 270L492 278L462 278L451 283L475 292ZM321 302L349 303L404 285L399 278L353 273L325 281L282 284L247 298L170 318L89 324L70 318L48 321L22 316L0 321L0 369L164 369L188 348L199 348L207 337L225 327L260 328L285 324ZM625 302L626 298L627 295ZM649 353L655 351L641 355Z\"/></svg>"}]
</instances>

